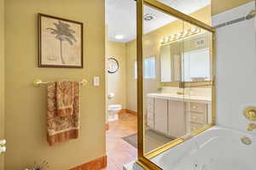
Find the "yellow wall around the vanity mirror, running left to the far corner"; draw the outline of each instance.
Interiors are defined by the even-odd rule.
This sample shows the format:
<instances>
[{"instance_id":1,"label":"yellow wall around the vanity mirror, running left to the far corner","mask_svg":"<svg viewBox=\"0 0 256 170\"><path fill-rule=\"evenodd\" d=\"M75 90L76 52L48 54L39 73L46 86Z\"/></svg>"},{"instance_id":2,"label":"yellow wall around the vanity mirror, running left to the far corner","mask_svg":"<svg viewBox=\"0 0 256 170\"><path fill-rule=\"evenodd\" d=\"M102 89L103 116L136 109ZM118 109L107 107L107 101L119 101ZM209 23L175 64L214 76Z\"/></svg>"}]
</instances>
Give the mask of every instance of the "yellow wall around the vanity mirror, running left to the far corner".
<instances>
[{"instance_id":1,"label":"yellow wall around the vanity mirror, running left to the far corner","mask_svg":"<svg viewBox=\"0 0 256 170\"><path fill-rule=\"evenodd\" d=\"M211 25L211 7L201 8L191 14L193 17ZM184 25L184 29L189 29L189 24ZM160 88L160 39L183 31L183 22L181 20L152 31L143 37L143 55L144 57L154 55L156 57L156 79L144 81L144 91L146 93L155 93ZM137 111L137 80L134 78L134 61L137 59L136 40L126 43L126 105L127 109ZM145 101L145 99L144 99ZM146 101L145 101L146 102Z\"/></svg>"}]
</instances>

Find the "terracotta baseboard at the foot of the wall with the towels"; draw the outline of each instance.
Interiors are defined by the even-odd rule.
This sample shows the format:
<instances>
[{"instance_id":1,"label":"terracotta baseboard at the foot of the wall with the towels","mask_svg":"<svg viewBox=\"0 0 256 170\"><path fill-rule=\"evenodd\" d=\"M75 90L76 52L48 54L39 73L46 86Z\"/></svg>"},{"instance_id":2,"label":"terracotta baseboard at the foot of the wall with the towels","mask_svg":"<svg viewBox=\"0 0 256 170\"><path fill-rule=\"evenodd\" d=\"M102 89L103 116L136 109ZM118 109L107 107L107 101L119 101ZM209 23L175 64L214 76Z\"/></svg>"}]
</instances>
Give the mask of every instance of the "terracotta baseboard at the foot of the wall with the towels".
<instances>
[{"instance_id":1,"label":"terracotta baseboard at the foot of the wall with the towels","mask_svg":"<svg viewBox=\"0 0 256 170\"><path fill-rule=\"evenodd\" d=\"M107 167L107 156L96 158L93 161L86 162L69 170L101 170L104 167Z\"/></svg>"}]
</instances>

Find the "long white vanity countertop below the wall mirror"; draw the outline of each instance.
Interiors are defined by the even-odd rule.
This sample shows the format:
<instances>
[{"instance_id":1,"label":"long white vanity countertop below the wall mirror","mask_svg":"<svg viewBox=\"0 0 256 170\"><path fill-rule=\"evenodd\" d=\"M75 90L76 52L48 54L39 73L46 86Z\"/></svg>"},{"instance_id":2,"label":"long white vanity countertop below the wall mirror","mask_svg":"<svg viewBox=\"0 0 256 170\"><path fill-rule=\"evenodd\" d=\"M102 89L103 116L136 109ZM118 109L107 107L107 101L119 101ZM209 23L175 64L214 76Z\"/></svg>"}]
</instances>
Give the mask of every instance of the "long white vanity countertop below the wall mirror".
<instances>
[{"instance_id":1,"label":"long white vanity countertop below the wall mirror","mask_svg":"<svg viewBox=\"0 0 256 170\"><path fill-rule=\"evenodd\" d=\"M212 98L206 96L190 96L190 95L178 95L178 94L147 94L149 98L156 99L171 99L178 101L192 101L197 103L211 103Z\"/></svg>"}]
</instances>

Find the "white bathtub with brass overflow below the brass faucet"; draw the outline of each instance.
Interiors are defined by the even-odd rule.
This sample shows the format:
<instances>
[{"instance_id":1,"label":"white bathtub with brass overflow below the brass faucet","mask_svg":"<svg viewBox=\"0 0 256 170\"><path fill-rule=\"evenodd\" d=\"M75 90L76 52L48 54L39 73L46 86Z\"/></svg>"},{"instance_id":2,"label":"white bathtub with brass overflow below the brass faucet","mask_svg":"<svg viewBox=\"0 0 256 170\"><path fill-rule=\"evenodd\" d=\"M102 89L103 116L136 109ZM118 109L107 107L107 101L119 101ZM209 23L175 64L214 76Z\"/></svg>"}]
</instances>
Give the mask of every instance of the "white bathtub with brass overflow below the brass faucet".
<instances>
[{"instance_id":1,"label":"white bathtub with brass overflow below the brass faucet","mask_svg":"<svg viewBox=\"0 0 256 170\"><path fill-rule=\"evenodd\" d=\"M242 137L252 143L243 144ZM215 126L151 161L164 170L255 170L256 137Z\"/></svg>"}]
</instances>

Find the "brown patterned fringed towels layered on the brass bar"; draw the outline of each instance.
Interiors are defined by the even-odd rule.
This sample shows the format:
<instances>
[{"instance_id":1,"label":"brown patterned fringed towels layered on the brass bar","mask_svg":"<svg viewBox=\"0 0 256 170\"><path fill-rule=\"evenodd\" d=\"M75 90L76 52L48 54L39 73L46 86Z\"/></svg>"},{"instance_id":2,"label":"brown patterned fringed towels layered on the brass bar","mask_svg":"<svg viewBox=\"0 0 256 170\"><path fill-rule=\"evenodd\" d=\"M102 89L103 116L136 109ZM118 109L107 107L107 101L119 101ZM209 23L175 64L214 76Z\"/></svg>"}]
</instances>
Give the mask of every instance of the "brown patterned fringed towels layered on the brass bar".
<instances>
[{"instance_id":1,"label":"brown patterned fringed towels layered on the brass bar","mask_svg":"<svg viewBox=\"0 0 256 170\"><path fill-rule=\"evenodd\" d=\"M72 88L70 88L70 84L73 84ZM71 93L71 89L73 93ZM58 90L60 91L58 92ZM62 92L66 92L66 94L62 95ZM49 145L59 144L68 139L78 139L80 116L79 94L79 82L71 83L63 81L48 83L47 141Z\"/></svg>"}]
</instances>

